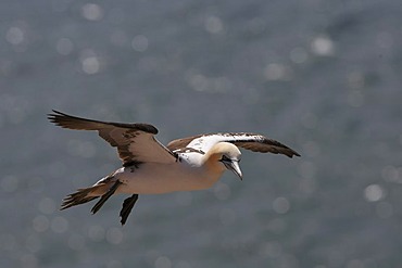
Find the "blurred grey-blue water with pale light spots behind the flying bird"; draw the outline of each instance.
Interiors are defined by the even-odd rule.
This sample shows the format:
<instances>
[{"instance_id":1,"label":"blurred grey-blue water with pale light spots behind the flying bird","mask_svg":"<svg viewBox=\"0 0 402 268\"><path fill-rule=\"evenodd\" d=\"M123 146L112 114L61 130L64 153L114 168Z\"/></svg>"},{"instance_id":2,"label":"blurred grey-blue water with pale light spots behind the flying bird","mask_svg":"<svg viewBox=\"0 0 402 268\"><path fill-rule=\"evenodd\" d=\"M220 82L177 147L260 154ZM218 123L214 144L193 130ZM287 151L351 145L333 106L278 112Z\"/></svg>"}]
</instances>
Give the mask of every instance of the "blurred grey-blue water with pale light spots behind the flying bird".
<instances>
[{"instance_id":1,"label":"blurred grey-blue water with pale light spots behind the flying bird","mask_svg":"<svg viewBox=\"0 0 402 268\"><path fill-rule=\"evenodd\" d=\"M0 266L388 268L402 263L398 0L0 2ZM120 166L46 114L146 122L163 143L253 131L244 179L59 212Z\"/></svg>"}]
</instances>

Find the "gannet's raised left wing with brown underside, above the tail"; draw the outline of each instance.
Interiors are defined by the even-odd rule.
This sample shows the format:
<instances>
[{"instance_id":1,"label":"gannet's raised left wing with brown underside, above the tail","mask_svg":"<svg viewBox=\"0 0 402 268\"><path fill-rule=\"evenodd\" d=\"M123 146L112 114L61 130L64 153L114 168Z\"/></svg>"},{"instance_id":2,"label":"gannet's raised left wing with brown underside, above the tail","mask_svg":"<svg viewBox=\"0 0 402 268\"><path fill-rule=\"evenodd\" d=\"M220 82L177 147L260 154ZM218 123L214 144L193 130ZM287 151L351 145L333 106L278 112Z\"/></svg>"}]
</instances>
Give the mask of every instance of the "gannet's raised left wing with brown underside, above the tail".
<instances>
[{"instance_id":1,"label":"gannet's raised left wing with brown underside, above the tail","mask_svg":"<svg viewBox=\"0 0 402 268\"><path fill-rule=\"evenodd\" d=\"M174 163L175 155L155 138L158 129L148 124L123 124L85 119L53 110L48 118L56 126L76 130L97 130L99 136L117 148L124 166L133 163Z\"/></svg>"}]
</instances>

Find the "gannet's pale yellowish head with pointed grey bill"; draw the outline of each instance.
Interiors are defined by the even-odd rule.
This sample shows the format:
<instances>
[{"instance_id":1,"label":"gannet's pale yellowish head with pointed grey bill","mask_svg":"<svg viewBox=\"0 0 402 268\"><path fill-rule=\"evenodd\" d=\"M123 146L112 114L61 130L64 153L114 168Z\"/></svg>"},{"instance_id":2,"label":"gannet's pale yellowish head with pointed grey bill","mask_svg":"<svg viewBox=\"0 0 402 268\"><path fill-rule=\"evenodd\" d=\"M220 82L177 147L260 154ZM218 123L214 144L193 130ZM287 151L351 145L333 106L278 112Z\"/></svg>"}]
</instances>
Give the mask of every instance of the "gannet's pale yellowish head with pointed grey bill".
<instances>
[{"instance_id":1,"label":"gannet's pale yellowish head with pointed grey bill","mask_svg":"<svg viewBox=\"0 0 402 268\"><path fill-rule=\"evenodd\" d=\"M215 144L205 155L206 164L212 169L224 171L229 169L242 180L239 162L241 158L240 150L229 142L219 142Z\"/></svg>"}]
</instances>

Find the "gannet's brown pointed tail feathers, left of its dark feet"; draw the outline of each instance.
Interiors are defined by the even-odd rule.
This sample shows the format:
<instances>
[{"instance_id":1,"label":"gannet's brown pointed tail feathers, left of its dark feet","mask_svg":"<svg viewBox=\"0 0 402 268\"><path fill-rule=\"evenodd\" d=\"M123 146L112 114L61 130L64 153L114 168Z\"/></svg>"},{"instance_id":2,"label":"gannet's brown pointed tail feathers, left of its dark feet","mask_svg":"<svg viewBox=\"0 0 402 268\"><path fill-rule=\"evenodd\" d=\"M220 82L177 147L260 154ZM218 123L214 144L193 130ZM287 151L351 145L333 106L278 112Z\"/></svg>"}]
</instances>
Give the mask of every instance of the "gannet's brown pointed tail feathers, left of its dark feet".
<instances>
[{"instance_id":1,"label":"gannet's brown pointed tail feathers, left of its dark feet","mask_svg":"<svg viewBox=\"0 0 402 268\"><path fill-rule=\"evenodd\" d=\"M108 192L109 188L109 183L102 183L78 189L75 193L71 193L64 197L60 210L96 200Z\"/></svg>"}]
</instances>

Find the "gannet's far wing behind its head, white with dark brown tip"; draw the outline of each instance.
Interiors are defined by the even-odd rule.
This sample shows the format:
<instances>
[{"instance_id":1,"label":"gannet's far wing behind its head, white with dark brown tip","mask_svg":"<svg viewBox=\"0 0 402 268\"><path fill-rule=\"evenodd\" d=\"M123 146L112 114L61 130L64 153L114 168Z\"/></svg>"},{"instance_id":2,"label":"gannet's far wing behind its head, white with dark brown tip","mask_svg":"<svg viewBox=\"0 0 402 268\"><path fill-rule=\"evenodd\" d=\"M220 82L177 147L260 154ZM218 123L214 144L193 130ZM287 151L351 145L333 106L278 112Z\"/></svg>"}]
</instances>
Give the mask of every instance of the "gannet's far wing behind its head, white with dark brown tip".
<instances>
[{"instance_id":1,"label":"gannet's far wing behind its head, white with dark brown tip","mask_svg":"<svg viewBox=\"0 0 402 268\"><path fill-rule=\"evenodd\" d=\"M218 142L231 142L237 146L251 150L253 152L285 154L289 157L292 157L293 155L300 156L296 151L284 145L279 141L268 139L262 135L247 132L199 135L171 141L167 144L167 148L171 151L189 148L208 152Z\"/></svg>"}]
</instances>

